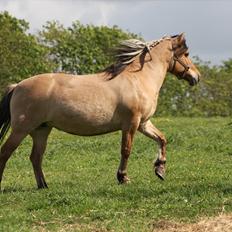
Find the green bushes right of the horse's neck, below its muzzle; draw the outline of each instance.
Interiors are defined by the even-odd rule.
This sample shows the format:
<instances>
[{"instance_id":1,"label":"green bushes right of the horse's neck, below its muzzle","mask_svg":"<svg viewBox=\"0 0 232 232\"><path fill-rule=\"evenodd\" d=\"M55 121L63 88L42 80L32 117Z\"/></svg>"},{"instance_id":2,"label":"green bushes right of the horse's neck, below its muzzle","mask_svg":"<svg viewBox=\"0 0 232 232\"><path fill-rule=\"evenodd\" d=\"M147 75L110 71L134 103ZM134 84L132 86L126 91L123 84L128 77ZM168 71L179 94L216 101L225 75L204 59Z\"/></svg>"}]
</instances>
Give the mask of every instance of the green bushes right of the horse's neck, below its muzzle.
<instances>
[{"instance_id":1,"label":"green bushes right of the horse's neck, below its muzzle","mask_svg":"<svg viewBox=\"0 0 232 232\"><path fill-rule=\"evenodd\" d=\"M167 75L160 92L159 115L229 116L232 114L231 60L221 66L196 59L201 80L195 87Z\"/></svg>"}]
</instances>

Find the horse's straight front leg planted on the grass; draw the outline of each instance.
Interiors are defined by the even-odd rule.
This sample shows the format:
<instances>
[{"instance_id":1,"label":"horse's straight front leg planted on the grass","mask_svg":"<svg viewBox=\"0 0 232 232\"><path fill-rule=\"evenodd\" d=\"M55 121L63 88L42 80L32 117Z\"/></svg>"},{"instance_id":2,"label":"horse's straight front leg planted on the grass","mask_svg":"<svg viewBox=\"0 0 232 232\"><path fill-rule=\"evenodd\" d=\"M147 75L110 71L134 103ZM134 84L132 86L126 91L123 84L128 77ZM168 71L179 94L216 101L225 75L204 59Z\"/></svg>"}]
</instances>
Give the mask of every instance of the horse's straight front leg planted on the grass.
<instances>
[{"instance_id":1,"label":"horse's straight front leg planted on the grass","mask_svg":"<svg viewBox=\"0 0 232 232\"><path fill-rule=\"evenodd\" d=\"M138 128L139 123L133 123L130 128L124 128L122 130L122 142L121 142L121 160L117 172L117 179L120 184L130 182L127 176L127 163L131 153L131 147L134 134Z\"/></svg>"}]
</instances>

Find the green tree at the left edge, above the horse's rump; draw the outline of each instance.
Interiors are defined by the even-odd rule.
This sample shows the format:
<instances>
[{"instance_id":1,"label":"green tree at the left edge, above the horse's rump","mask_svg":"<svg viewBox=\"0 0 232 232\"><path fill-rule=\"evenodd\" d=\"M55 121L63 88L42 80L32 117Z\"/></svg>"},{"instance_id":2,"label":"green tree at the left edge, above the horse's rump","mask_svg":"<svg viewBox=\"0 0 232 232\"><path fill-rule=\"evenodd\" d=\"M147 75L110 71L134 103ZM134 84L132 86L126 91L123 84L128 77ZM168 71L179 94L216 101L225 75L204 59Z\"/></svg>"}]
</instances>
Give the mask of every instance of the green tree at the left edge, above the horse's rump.
<instances>
[{"instance_id":1,"label":"green tree at the left edge, above the horse's rump","mask_svg":"<svg viewBox=\"0 0 232 232\"><path fill-rule=\"evenodd\" d=\"M0 14L1 87L53 68L47 48L27 33L28 29L29 24L25 20L12 17L7 12Z\"/></svg>"}]
</instances>

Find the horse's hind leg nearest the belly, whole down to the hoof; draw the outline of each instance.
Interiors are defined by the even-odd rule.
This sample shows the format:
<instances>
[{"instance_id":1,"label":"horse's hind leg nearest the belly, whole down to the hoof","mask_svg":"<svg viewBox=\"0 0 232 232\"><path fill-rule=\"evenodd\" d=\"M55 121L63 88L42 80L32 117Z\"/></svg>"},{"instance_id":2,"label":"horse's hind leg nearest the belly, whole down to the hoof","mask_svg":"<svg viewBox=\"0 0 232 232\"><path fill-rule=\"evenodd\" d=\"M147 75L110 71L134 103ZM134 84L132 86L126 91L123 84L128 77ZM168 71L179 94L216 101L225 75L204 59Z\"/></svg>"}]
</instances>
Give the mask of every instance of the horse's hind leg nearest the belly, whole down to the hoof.
<instances>
[{"instance_id":1,"label":"horse's hind leg nearest the belly, whole down to the hoof","mask_svg":"<svg viewBox=\"0 0 232 232\"><path fill-rule=\"evenodd\" d=\"M48 135L51 132L51 127L39 127L30 133L33 140L33 147L30 156L34 169L35 179L38 188L47 188L47 183L42 171L43 154L47 146Z\"/></svg>"}]
</instances>

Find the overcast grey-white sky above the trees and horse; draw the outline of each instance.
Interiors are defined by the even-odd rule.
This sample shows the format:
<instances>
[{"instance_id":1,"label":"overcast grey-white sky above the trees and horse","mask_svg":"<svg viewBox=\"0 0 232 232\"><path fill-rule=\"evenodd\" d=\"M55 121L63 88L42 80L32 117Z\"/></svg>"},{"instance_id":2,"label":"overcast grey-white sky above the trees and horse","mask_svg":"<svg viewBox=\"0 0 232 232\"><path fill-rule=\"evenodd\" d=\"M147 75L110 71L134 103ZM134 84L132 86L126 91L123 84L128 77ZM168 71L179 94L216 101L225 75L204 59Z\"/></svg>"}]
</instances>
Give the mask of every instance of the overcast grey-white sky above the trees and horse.
<instances>
[{"instance_id":1,"label":"overcast grey-white sky above the trees and horse","mask_svg":"<svg viewBox=\"0 0 232 232\"><path fill-rule=\"evenodd\" d=\"M145 40L185 32L192 56L212 64L232 58L232 0L0 0L5 10L34 33L48 20L118 25Z\"/></svg>"}]
</instances>

